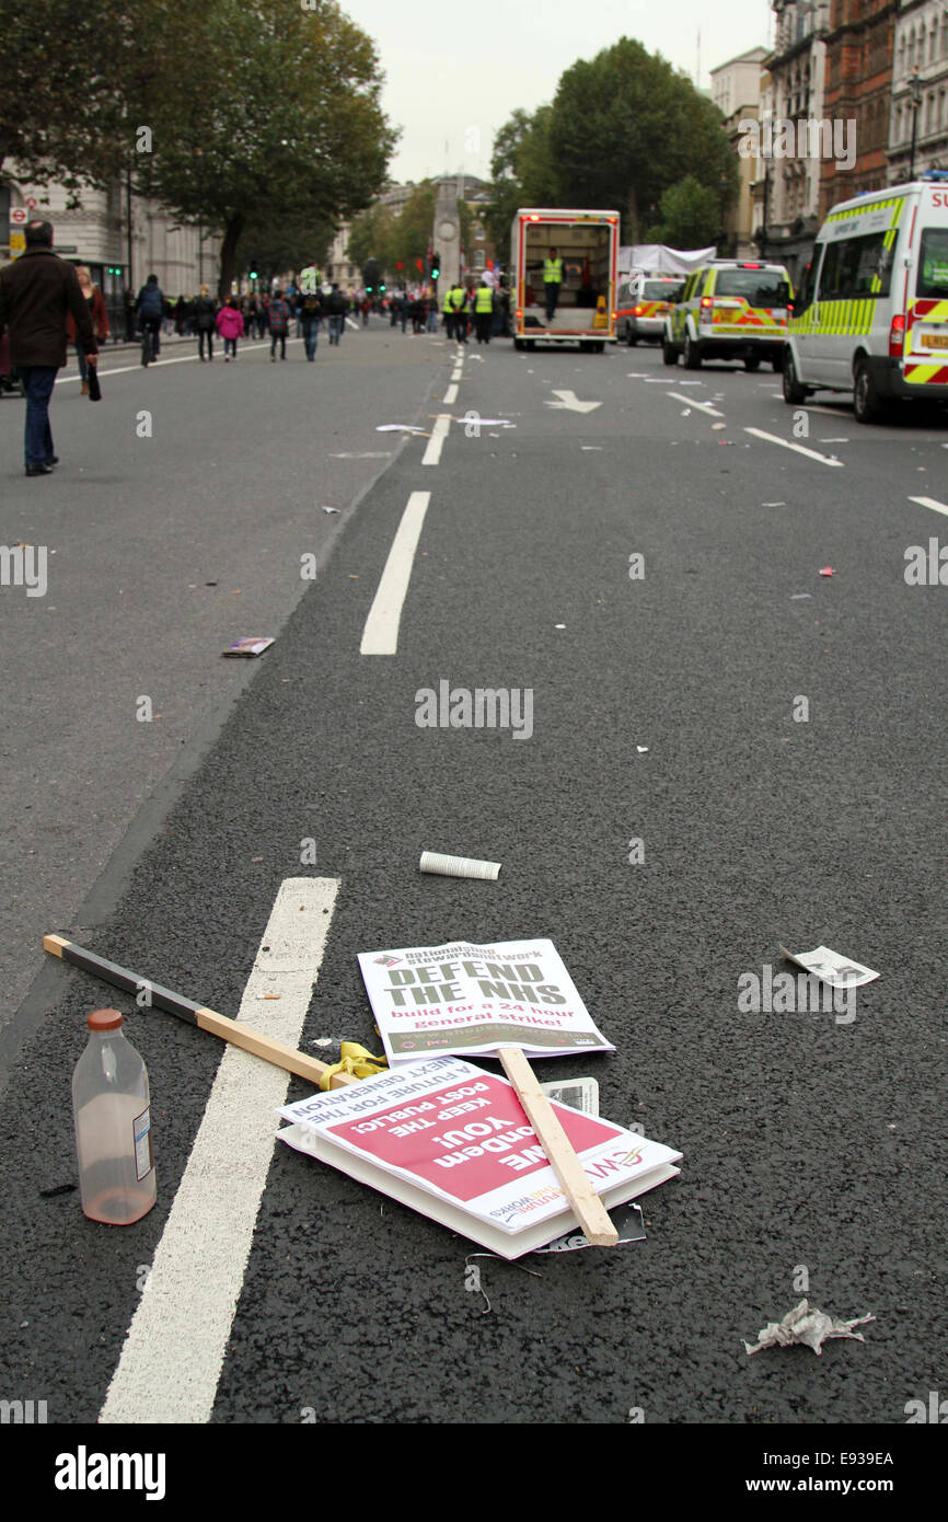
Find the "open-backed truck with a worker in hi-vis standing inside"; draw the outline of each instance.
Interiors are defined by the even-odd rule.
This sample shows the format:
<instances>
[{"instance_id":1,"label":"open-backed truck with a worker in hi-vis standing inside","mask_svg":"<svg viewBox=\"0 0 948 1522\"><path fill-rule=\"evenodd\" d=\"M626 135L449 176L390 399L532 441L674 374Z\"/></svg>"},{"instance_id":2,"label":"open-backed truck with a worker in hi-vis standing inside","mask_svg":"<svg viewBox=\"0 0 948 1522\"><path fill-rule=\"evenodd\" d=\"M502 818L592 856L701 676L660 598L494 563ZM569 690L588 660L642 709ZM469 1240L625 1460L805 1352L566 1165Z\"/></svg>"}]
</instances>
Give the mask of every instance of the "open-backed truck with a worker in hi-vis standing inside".
<instances>
[{"instance_id":1,"label":"open-backed truck with a worker in hi-vis standing inside","mask_svg":"<svg viewBox=\"0 0 948 1522\"><path fill-rule=\"evenodd\" d=\"M554 248L563 280L551 310L543 268ZM578 344L601 355L615 344L618 257L618 212L520 207L510 228L514 349Z\"/></svg>"}]
</instances>

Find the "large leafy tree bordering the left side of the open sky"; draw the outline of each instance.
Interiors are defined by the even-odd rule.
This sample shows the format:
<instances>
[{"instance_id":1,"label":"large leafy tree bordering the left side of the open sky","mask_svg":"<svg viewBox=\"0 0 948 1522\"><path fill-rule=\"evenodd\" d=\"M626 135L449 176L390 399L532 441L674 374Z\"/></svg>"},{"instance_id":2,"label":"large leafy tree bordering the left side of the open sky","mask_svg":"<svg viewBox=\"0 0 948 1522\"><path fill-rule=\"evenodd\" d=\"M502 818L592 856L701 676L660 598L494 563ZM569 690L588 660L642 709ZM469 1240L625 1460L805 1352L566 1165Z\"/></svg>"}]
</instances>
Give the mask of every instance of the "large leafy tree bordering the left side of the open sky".
<instances>
[{"instance_id":1,"label":"large leafy tree bordering the left side of the open sky","mask_svg":"<svg viewBox=\"0 0 948 1522\"><path fill-rule=\"evenodd\" d=\"M396 143L370 38L332 0L163 0L149 46L152 151L135 184L222 231L221 294L253 219L321 227L368 205Z\"/></svg>"}]
</instances>

